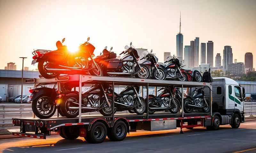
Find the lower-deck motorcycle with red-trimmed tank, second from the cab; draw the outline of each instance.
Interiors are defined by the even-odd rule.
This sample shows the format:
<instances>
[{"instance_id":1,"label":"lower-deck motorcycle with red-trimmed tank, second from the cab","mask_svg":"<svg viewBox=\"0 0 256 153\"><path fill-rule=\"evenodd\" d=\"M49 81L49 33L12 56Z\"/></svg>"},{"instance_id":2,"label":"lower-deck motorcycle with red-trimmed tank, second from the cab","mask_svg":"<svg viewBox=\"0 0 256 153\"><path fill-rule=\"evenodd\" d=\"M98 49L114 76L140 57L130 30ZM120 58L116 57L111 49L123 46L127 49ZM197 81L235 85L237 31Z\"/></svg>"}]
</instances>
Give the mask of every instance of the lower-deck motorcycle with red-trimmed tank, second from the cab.
<instances>
[{"instance_id":1,"label":"lower-deck motorcycle with red-trimmed tank, second from the cab","mask_svg":"<svg viewBox=\"0 0 256 153\"><path fill-rule=\"evenodd\" d=\"M178 99L173 97L172 88L170 86L163 87L158 91L163 90L158 96L148 95L148 113L153 114L156 111L169 110L171 113L178 113L180 105Z\"/></svg>"}]
</instances>

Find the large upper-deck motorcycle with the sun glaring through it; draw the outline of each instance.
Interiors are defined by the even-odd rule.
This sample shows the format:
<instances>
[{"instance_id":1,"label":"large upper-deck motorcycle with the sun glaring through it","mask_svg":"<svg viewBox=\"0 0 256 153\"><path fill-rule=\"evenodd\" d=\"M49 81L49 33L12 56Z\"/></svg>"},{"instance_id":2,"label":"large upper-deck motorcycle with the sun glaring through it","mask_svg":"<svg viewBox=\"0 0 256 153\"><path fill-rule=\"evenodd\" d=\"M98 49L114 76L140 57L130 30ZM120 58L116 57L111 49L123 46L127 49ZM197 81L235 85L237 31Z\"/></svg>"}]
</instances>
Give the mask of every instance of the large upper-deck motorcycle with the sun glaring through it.
<instances>
[{"instance_id":1,"label":"large upper-deck motorcycle with the sun glaring through it","mask_svg":"<svg viewBox=\"0 0 256 153\"><path fill-rule=\"evenodd\" d=\"M88 74L101 76L100 66L92 58L95 47L87 41L79 46L77 53L68 52L62 43L56 42L57 50L35 50L31 64L38 62L38 71L44 78L58 77L60 74Z\"/></svg>"}]
</instances>

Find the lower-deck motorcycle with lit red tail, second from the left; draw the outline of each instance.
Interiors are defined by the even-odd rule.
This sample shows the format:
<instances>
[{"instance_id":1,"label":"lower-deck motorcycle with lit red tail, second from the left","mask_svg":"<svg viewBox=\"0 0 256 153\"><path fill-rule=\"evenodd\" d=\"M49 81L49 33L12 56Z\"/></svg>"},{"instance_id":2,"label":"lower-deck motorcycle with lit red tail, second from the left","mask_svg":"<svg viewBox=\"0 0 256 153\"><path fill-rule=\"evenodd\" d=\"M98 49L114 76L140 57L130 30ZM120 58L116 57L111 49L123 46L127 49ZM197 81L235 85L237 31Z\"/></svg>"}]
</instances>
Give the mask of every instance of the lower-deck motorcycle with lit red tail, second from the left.
<instances>
[{"instance_id":1,"label":"lower-deck motorcycle with lit red tail, second from the left","mask_svg":"<svg viewBox=\"0 0 256 153\"><path fill-rule=\"evenodd\" d=\"M108 85L94 84L85 93L82 93L82 113L99 111L104 116L112 114L112 102L107 98ZM59 94L60 111L68 117L74 118L79 114L79 92L69 91L66 94Z\"/></svg>"}]
</instances>

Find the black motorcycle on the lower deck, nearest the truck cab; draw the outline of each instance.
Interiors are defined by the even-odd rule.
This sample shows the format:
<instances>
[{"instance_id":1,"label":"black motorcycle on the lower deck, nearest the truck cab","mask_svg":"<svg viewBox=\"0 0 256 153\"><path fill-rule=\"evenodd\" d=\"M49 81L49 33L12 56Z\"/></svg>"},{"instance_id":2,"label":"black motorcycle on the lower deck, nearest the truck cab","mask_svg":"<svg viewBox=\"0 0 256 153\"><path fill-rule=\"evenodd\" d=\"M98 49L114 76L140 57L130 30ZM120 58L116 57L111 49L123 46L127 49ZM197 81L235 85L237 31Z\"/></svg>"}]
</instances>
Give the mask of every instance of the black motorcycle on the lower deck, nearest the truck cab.
<instances>
[{"instance_id":1,"label":"black motorcycle on the lower deck, nearest the truck cab","mask_svg":"<svg viewBox=\"0 0 256 153\"><path fill-rule=\"evenodd\" d=\"M184 112L191 113L194 110L202 109L203 112L208 113L210 111L210 102L204 97L204 88L196 88L192 91L192 97L187 95L184 99Z\"/></svg>"}]
</instances>

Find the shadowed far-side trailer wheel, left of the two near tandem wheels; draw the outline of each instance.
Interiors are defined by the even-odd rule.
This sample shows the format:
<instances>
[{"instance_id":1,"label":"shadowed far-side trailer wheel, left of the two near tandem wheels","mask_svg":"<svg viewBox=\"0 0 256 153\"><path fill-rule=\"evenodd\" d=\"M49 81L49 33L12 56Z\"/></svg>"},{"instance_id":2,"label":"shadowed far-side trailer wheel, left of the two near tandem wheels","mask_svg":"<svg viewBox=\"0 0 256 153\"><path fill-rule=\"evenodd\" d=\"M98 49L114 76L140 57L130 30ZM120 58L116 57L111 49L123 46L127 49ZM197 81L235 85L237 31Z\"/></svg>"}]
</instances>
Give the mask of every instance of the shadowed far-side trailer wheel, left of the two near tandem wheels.
<instances>
[{"instance_id":1,"label":"shadowed far-side trailer wheel, left of the two near tandem wheels","mask_svg":"<svg viewBox=\"0 0 256 153\"><path fill-rule=\"evenodd\" d=\"M74 140L79 137L79 128L77 126L69 126L60 128L60 136L68 140Z\"/></svg>"}]
</instances>

